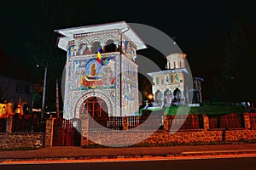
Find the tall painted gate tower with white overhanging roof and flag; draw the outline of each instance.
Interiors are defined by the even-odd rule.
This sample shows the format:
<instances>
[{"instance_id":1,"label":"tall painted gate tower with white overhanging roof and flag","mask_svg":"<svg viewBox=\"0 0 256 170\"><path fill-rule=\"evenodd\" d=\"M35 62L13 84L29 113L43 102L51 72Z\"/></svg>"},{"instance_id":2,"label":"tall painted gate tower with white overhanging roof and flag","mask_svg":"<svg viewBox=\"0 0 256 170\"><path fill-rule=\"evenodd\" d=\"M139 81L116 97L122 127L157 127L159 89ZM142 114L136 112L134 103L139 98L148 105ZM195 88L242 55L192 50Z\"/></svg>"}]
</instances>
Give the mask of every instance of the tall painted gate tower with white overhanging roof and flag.
<instances>
[{"instance_id":1,"label":"tall painted gate tower with white overhanging roof and flag","mask_svg":"<svg viewBox=\"0 0 256 170\"><path fill-rule=\"evenodd\" d=\"M67 51L64 118L138 112L137 50L146 45L125 21L56 30Z\"/></svg>"}]
</instances>

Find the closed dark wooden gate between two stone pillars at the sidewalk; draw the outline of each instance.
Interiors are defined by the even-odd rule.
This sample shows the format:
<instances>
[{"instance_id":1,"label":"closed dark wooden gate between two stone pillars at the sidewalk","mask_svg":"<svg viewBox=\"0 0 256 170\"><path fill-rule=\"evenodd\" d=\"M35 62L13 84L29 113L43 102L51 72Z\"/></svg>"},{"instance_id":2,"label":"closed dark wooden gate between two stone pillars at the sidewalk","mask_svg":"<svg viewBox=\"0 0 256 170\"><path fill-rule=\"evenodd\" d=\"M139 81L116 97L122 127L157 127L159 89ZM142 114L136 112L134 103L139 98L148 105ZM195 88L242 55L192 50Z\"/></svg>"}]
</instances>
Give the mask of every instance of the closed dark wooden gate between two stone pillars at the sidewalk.
<instances>
[{"instance_id":1,"label":"closed dark wooden gate between two stone pillars at the sidewalk","mask_svg":"<svg viewBox=\"0 0 256 170\"><path fill-rule=\"evenodd\" d=\"M81 145L80 119L55 119L53 132L53 146L80 146Z\"/></svg>"}]
</instances>

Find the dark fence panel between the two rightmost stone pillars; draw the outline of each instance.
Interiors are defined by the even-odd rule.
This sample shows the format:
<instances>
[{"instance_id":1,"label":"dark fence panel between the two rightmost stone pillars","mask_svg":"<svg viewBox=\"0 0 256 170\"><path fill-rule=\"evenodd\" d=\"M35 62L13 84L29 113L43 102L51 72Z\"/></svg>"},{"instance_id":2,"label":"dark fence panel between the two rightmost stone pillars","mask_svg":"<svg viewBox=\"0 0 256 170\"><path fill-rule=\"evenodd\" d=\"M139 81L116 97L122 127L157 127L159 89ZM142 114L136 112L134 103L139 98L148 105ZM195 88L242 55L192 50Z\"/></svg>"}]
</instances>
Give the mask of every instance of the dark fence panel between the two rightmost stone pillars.
<instances>
[{"instance_id":1,"label":"dark fence panel between the two rightmost stone pillars","mask_svg":"<svg viewBox=\"0 0 256 170\"><path fill-rule=\"evenodd\" d=\"M215 128L244 128L243 114L208 115L210 129Z\"/></svg>"}]
</instances>

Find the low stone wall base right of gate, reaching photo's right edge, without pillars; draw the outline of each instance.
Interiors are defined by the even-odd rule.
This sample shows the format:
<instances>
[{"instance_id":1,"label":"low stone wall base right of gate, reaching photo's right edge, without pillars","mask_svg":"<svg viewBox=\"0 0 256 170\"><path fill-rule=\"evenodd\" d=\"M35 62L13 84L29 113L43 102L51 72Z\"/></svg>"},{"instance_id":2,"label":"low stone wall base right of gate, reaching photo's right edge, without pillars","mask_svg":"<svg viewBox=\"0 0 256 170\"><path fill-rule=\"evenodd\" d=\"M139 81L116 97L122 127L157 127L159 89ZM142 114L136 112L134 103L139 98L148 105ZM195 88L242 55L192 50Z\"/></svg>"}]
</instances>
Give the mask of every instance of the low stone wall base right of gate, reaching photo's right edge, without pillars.
<instances>
[{"instance_id":1,"label":"low stone wall base right of gate, reaching photo's right edge, without pillars","mask_svg":"<svg viewBox=\"0 0 256 170\"><path fill-rule=\"evenodd\" d=\"M82 138L82 146L90 144L119 145L168 145L168 144L211 144L220 142L240 142L256 139L256 130L186 130L169 133L156 132L108 132L86 133ZM143 139L144 138L144 139ZM92 142L90 139L93 139ZM143 139L140 141L139 139ZM139 141L139 142L138 142Z\"/></svg>"}]
</instances>

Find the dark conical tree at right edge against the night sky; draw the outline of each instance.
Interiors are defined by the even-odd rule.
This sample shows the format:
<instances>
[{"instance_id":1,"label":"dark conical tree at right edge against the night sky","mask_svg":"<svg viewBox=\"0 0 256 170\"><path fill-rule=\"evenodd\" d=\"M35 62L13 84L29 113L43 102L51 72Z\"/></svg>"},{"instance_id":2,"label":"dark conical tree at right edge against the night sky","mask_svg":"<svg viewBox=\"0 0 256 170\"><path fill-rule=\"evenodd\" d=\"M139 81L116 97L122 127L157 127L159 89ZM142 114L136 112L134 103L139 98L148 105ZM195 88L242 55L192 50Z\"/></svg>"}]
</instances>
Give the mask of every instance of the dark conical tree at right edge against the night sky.
<instances>
[{"instance_id":1,"label":"dark conical tree at right edge against the night sky","mask_svg":"<svg viewBox=\"0 0 256 170\"><path fill-rule=\"evenodd\" d=\"M223 60L222 76L219 84L219 93L224 94L227 101L254 100L253 88L256 87L255 77L255 37L250 31L250 26L236 17L231 22L229 36L226 37Z\"/></svg>"}]
</instances>

